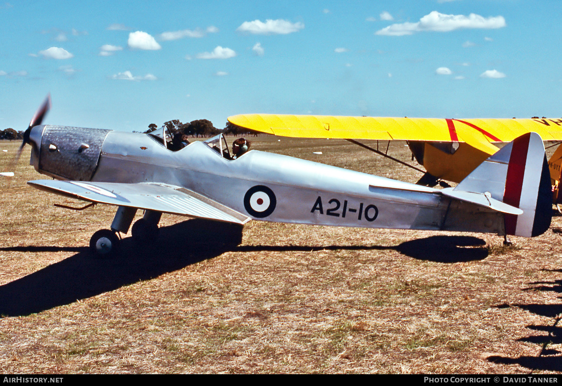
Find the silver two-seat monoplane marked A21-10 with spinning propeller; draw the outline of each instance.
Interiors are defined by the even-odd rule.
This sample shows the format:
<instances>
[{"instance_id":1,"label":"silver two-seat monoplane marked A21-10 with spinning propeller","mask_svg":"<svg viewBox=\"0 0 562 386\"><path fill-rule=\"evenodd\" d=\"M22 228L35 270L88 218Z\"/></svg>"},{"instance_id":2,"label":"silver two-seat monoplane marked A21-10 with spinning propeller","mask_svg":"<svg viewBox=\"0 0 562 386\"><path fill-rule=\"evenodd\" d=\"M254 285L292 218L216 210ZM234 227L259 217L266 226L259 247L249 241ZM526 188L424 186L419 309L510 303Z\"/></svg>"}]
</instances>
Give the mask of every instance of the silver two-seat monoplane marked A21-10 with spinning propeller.
<instances>
[{"instance_id":1,"label":"silver two-seat monoplane marked A21-10 with spinning propeller","mask_svg":"<svg viewBox=\"0 0 562 386\"><path fill-rule=\"evenodd\" d=\"M30 164L55 180L35 188L117 207L90 247L112 255L117 232L155 234L162 213L245 224L448 230L533 237L550 226L551 187L541 138L528 133L455 188L433 189L251 149L229 152L223 135L184 147L155 134L42 125L46 102L24 133Z\"/></svg>"}]
</instances>

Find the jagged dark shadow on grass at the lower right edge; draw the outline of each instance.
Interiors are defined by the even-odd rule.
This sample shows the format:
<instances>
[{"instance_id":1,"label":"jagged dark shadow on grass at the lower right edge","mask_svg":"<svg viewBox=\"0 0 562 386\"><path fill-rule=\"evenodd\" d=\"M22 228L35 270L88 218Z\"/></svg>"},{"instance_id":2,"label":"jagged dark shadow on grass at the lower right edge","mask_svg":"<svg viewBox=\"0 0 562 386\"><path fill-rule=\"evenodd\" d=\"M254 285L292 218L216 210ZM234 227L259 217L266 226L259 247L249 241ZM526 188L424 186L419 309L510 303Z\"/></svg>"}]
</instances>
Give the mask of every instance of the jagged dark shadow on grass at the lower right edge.
<instances>
[{"instance_id":1,"label":"jagged dark shadow on grass at the lower right edge","mask_svg":"<svg viewBox=\"0 0 562 386\"><path fill-rule=\"evenodd\" d=\"M562 272L562 270L554 270ZM562 293L562 280L554 281L534 281L529 283L532 287L523 290L551 291L558 294ZM508 356L490 356L488 361L505 365L519 365L531 370L543 371L562 371L562 352L558 349L550 348L552 344L562 344L562 326L558 326L562 320L562 304L504 304L497 308L518 307L533 314L549 317L554 320L552 325L528 325L527 328L533 331L542 331L542 335L529 335L519 338L519 342L533 343L540 346L541 351L536 357L520 356L511 358Z\"/></svg>"}]
</instances>

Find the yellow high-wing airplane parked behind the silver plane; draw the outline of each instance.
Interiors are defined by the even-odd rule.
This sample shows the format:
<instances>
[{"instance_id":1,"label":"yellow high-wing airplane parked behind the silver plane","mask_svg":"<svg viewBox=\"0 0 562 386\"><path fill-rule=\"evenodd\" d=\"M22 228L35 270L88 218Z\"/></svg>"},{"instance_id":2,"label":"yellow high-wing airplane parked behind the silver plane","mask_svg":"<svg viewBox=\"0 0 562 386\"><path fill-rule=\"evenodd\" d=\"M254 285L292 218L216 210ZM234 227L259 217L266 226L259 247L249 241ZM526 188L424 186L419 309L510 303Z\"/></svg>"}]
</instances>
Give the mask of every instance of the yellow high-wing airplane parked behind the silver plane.
<instances>
[{"instance_id":1,"label":"yellow high-wing airplane parked behind the silver plane","mask_svg":"<svg viewBox=\"0 0 562 386\"><path fill-rule=\"evenodd\" d=\"M510 142L525 133L538 133L544 141L562 140L562 119L544 117L424 119L242 114L228 120L242 128L282 137L340 138L354 143L357 139L405 140L427 171L418 181L423 185L436 185L439 180L459 183L498 150L496 143ZM562 202L562 194L558 194L561 164L562 146L549 160L554 203Z\"/></svg>"}]
</instances>

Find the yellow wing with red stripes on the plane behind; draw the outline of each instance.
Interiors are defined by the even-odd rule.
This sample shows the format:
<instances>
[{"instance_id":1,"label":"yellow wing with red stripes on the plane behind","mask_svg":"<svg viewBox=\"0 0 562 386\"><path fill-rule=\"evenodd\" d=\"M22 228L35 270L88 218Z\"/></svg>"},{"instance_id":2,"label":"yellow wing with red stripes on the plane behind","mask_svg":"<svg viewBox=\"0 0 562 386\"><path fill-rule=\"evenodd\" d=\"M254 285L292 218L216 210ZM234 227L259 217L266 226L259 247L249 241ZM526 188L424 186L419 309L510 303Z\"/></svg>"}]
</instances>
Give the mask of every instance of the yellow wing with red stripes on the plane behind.
<instances>
[{"instance_id":1,"label":"yellow wing with red stripes on the plane behind","mask_svg":"<svg viewBox=\"0 0 562 386\"><path fill-rule=\"evenodd\" d=\"M243 128L296 138L511 142L534 132L562 140L562 119L434 119L323 115L242 114L228 117Z\"/></svg>"}]
</instances>

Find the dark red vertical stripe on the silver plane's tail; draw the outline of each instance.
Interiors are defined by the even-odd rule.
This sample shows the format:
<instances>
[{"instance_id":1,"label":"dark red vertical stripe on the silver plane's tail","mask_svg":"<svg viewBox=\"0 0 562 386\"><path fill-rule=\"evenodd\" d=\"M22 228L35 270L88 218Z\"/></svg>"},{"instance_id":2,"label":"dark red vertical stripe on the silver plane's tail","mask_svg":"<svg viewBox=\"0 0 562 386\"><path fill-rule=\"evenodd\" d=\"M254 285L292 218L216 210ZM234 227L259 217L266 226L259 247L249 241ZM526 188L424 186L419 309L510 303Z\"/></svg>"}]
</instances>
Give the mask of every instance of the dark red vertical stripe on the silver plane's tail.
<instances>
[{"instance_id":1,"label":"dark red vertical stripe on the silver plane's tail","mask_svg":"<svg viewBox=\"0 0 562 386\"><path fill-rule=\"evenodd\" d=\"M531 134L527 133L513 141L509 165L507 166L507 176L505 179L504 202L507 205L519 207L521 192L523 189L523 177L525 175L525 165L527 164L527 152L529 150L529 139ZM517 226L517 215L505 215L506 234L515 234Z\"/></svg>"}]
</instances>

